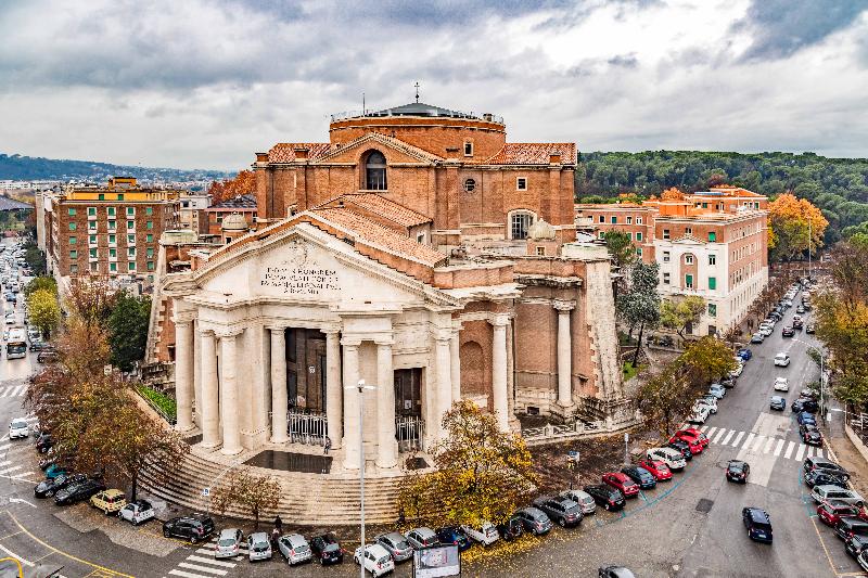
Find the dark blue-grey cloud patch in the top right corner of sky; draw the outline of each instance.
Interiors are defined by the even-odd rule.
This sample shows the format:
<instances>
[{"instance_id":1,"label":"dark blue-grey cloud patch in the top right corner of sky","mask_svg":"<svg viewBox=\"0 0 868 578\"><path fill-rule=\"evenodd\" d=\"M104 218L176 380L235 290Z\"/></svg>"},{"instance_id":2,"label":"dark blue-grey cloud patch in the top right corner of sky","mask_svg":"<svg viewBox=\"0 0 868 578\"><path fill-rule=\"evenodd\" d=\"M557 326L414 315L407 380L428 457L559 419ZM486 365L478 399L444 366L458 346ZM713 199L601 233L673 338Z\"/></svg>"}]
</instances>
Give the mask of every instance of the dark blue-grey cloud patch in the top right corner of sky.
<instances>
[{"instance_id":1,"label":"dark blue-grey cloud patch in the top right corner of sky","mask_svg":"<svg viewBox=\"0 0 868 578\"><path fill-rule=\"evenodd\" d=\"M866 10L868 0L753 0L733 30L751 33L743 60L781 59L848 27Z\"/></svg>"}]
</instances>

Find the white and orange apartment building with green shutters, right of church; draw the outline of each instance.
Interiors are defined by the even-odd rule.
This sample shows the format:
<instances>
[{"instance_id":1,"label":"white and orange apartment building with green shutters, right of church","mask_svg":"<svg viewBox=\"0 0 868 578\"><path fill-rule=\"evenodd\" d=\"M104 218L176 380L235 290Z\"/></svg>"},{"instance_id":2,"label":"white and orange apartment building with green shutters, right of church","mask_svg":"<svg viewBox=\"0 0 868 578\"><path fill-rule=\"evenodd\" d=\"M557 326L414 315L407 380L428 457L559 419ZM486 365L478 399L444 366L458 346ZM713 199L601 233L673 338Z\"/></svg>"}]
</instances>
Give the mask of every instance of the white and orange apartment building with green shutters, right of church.
<instances>
[{"instance_id":1,"label":"white and orange apartment building with green shutters, right of church","mask_svg":"<svg viewBox=\"0 0 868 578\"><path fill-rule=\"evenodd\" d=\"M660 264L660 293L707 304L694 335L723 333L748 313L768 283L767 197L736 187L651 198L642 204L576 205L598 239L627 232L643 262Z\"/></svg>"}]
</instances>

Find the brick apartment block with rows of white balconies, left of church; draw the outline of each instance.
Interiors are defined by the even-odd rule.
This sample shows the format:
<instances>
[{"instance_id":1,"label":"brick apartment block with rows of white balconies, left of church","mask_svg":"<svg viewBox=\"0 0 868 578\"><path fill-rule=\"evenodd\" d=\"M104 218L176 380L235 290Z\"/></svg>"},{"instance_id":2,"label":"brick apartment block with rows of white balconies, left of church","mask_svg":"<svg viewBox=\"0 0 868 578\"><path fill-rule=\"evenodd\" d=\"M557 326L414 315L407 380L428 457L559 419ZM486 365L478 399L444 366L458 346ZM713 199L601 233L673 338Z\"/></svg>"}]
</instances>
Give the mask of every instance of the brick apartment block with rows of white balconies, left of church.
<instances>
[{"instance_id":1,"label":"brick apartment block with rows of white balconies, left of church","mask_svg":"<svg viewBox=\"0 0 868 578\"><path fill-rule=\"evenodd\" d=\"M178 227L180 191L140 188L135 178L41 195L49 272L133 275L153 281L159 236Z\"/></svg>"}]
</instances>

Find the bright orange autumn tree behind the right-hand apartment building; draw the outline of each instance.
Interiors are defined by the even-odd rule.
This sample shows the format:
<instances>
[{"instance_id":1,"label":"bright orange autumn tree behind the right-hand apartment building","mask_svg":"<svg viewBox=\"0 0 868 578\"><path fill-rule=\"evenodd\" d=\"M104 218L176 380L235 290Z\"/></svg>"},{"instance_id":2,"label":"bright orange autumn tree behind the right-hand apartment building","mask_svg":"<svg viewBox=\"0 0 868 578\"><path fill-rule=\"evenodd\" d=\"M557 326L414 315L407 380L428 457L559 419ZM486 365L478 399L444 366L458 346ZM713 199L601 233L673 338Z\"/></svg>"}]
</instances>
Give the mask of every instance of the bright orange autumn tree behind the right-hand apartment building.
<instances>
[{"instance_id":1,"label":"bright orange autumn tree behind the right-hand apartment building","mask_svg":"<svg viewBox=\"0 0 868 578\"><path fill-rule=\"evenodd\" d=\"M807 198L783 193L768 204L768 251L771 259L789 261L822 246L829 221Z\"/></svg>"}]
</instances>

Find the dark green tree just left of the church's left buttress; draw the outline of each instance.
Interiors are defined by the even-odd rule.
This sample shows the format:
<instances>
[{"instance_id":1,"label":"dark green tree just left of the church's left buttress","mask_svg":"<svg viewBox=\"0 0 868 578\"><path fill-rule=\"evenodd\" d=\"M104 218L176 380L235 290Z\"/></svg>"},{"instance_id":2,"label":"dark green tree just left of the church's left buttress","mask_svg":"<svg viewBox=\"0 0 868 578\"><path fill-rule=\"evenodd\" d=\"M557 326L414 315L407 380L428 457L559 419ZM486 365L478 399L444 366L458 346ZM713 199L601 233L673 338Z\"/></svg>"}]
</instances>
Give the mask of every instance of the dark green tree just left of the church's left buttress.
<instances>
[{"instance_id":1,"label":"dark green tree just left of the church's left buttress","mask_svg":"<svg viewBox=\"0 0 868 578\"><path fill-rule=\"evenodd\" d=\"M150 298L133 297L126 292L117 296L107 326L111 361L120 371L132 371L133 363L144 359L150 317Z\"/></svg>"}]
</instances>

